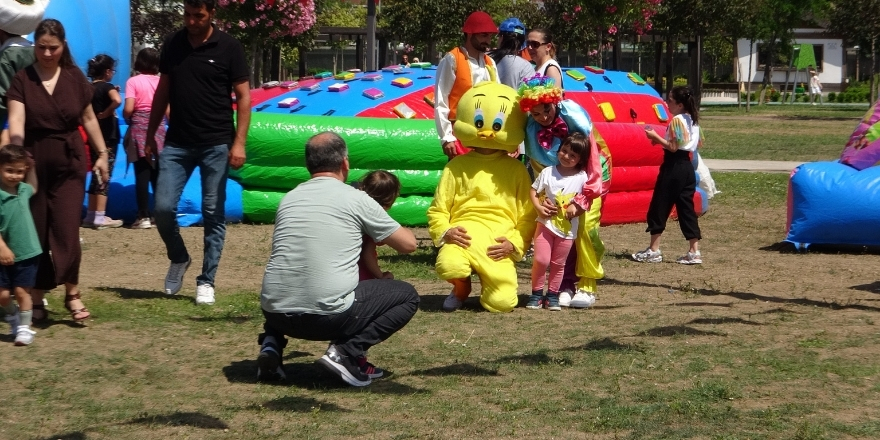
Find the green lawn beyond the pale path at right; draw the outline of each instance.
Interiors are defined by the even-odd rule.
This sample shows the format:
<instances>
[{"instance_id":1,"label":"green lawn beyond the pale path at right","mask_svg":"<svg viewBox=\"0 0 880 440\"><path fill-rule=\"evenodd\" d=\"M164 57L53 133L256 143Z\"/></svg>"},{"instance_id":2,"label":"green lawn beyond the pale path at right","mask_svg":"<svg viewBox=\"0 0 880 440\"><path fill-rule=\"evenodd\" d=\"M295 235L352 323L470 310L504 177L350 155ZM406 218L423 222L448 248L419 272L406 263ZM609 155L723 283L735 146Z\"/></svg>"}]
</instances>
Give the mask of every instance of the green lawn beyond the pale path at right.
<instances>
[{"instance_id":1,"label":"green lawn beyond the pale path at right","mask_svg":"<svg viewBox=\"0 0 880 440\"><path fill-rule=\"evenodd\" d=\"M708 106L700 113L709 159L821 161L840 157L868 106Z\"/></svg>"}]
</instances>

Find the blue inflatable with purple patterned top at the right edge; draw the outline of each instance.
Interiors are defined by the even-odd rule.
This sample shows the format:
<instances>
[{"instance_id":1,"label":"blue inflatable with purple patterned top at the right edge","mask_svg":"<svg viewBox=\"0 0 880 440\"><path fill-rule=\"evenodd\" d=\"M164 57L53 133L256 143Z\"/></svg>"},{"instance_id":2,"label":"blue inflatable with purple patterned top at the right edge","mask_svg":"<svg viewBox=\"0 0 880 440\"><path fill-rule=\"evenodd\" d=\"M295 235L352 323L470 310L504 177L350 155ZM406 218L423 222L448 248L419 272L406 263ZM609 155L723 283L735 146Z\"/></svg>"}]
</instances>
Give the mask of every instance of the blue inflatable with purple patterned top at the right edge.
<instances>
[{"instance_id":1,"label":"blue inflatable with purple patterned top at the right edge","mask_svg":"<svg viewBox=\"0 0 880 440\"><path fill-rule=\"evenodd\" d=\"M811 244L880 245L880 101L856 126L837 162L795 168L788 185L788 236Z\"/></svg>"}]
</instances>

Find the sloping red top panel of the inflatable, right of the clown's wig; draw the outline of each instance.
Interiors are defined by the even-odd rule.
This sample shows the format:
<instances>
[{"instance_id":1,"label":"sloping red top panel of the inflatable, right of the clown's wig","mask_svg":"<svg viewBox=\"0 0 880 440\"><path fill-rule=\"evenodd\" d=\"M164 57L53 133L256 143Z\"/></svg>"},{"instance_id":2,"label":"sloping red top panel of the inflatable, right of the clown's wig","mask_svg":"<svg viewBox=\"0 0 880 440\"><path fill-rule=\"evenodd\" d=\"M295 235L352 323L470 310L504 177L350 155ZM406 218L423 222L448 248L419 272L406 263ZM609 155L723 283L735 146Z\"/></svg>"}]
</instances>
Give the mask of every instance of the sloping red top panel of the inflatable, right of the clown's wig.
<instances>
[{"instance_id":1,"label":"sloping red top panel of the inflatable, right of the clown's wig","mask_svg":"<svg viewBox=\"0 0 880 440\"><path fill-rule=\"evenodd\" d=\"M665 105L663 100L656 96L636 93L574 92L566 90L565 98L580 104L587 111L587 114L590 115L590 119L593 122L606 122L605 116L602 115L602 111L599 109L599 104L607 102L614 109L616 116L614 123L666 125L665 122L660 121L657 117L657 112L654 110L654 104ZM668 111L667 109L667 113ZM635 118L632 117L633 114L635 114Z\"/></svg>"}]
</instances>

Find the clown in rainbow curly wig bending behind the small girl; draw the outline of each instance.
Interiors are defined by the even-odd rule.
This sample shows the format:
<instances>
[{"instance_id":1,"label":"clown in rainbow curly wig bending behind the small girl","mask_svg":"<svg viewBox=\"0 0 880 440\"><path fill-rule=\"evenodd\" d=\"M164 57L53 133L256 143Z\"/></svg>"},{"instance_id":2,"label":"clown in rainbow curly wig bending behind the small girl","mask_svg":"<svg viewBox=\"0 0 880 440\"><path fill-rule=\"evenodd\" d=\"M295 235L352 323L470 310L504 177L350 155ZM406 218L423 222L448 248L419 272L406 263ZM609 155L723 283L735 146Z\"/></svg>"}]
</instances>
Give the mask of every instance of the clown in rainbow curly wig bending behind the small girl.
<instances>
[{"instance_id":1,"label":"clown in rainbow curly wig bending behind the small girl","mask_svg":"<svg viewBox=\"0 0 880 440\"><path fill-rule=\"evenodd\" d=\"M584 109L574 101L562 99L562 89L556 87L552 78L535 75L524 80L519 96L520 108L529 114L525 146L535 173L559 163L559 146L568 135L582 133L590 139L590 160L584 170L588 180L581 194L572 200L579 209L580 223L559 294L559 305L563 307L590 307L596 301L596 280L605 276L605 245L599 238L599 219L603 196L611 185L611 153L593 131ZM551 215L556 212L553 203L546 206Z\"/></svg>"}]
</instances>

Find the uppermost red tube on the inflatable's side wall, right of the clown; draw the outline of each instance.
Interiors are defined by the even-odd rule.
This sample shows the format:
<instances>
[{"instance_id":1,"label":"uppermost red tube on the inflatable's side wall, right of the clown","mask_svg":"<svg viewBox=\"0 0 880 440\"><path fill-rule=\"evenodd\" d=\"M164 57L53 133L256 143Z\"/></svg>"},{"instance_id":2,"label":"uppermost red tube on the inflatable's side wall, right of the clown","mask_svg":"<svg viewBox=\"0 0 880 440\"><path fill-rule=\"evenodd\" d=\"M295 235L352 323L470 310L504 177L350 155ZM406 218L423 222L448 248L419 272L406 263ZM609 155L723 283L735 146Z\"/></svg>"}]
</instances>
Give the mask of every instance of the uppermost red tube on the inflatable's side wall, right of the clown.
<instances>
[{"instance_id":1,"label":"uppermost red tube on the inflatable's side wall, right of the clown","mask_svg":"<svg viewBox=\"0 0 880 440\"><path fill-rule=\"evenodd\" d=\"M665 132L666 127L653 126ZM614 167L645 166L659 167L663 163L663 148L652 145L645 135L645 125L621 124L617 122L595 122L593 128L602 135ZM616 176L612 177L617 179Z\"/></svg>"}]
</instances>

